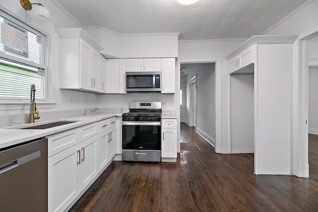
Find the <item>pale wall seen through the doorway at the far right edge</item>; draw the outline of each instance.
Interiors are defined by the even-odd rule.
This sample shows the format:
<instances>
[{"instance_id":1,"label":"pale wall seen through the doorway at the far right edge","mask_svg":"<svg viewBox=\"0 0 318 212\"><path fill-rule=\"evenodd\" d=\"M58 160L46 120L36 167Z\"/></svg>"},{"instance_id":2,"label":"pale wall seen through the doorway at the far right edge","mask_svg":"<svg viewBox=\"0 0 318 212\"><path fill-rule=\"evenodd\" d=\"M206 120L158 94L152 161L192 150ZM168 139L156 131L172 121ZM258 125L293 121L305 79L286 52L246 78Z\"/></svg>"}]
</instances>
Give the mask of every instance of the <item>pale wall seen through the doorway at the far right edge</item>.
<instances>
[{"instance_id":1,"label":"pale wall seen through the doorway at the far right edge","mask_svg":"<svg viewBox=\"0 0 318 212\"><path fill-rule=\"evenodd\" d=\"M318 68L309 68L309 133L318 135Z\"/></svg>"}]
</instances>

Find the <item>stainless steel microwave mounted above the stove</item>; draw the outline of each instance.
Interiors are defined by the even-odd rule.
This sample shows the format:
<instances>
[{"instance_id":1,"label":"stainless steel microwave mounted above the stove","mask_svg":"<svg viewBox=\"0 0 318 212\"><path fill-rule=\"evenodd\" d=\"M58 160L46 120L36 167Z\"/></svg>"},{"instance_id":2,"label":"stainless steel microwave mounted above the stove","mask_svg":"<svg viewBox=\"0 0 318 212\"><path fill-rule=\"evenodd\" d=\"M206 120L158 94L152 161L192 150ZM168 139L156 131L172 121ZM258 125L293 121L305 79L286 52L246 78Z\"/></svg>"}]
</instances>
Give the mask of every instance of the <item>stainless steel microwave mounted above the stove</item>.
<instances>
[{"instance_id":1,"label":"stainless steel microwave mounted above the stove","mask_svg":"<svg viewBox=\"0 0 318 212\"><path fill-rule=\"evenodd\" d=\"M161 72L126 72L127 92L161 92Z\"/></svg>"}]
</instances>

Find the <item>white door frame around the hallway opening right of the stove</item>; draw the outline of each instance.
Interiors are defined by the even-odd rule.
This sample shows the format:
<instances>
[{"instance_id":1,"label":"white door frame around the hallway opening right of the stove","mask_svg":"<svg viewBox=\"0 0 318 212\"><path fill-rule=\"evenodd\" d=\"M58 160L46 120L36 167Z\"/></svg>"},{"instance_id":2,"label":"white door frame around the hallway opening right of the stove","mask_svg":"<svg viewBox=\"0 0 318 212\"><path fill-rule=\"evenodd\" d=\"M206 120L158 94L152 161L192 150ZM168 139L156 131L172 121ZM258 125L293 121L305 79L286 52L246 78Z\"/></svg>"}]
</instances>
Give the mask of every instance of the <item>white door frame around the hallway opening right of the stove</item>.
<instances>
[{"instance_id":1,"label":"white door frame around the hallway opening right of the stove","mask_svg":"<svg viewBox=\"0 0 318 212\"><path fill-rule=\"evenodd\" d=\"M178 58L176 61L176 87L180 87L180 71L181 66L180 64L183 63L215 63L215 81L216 81L216 88L215 88L215 102L216 102L216 138L215 138L215 152L222 153L222 122L221 122L221 115L222 115L222 102L221 102L221 82L222 82L222 58L221 57L215 57L215 58ZM179 105L179 99L180 99L180 92L176 92L175 95L175 102L176 105L176 114L180 114L180 105ZM177 125L177 150L180 152L180 117L177 119L178 125Z\"/></svg>"}]
</instances>

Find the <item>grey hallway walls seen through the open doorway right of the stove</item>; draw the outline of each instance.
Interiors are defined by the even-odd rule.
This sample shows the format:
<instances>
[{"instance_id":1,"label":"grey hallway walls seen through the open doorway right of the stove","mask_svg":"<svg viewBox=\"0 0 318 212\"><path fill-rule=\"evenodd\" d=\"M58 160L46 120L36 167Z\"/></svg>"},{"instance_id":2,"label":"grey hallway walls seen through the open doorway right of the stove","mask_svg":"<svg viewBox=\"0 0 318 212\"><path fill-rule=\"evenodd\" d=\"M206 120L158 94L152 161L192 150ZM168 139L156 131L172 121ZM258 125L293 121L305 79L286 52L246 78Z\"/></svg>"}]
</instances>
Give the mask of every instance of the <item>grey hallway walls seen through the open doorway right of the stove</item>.
<instances>
[{"instance_id":1,"label":"grey hallway walls seen through the open doorway right of the stove","mask_svg":"<svg viewBox=\"0 0 318 212\"><path fill-rule=\"evenodd\" d=\"M195 127L197 134L215 146L217 65L208 62L182 63L180 67L182 69L180 82L186 84L186 91L184 92L186 93L185 123L190 127ZM182 107L180 108L181 111ZM182 113L180 113L181 115ZM182 122L180 121L180 123Z\"/></svg>"}]
</instances>

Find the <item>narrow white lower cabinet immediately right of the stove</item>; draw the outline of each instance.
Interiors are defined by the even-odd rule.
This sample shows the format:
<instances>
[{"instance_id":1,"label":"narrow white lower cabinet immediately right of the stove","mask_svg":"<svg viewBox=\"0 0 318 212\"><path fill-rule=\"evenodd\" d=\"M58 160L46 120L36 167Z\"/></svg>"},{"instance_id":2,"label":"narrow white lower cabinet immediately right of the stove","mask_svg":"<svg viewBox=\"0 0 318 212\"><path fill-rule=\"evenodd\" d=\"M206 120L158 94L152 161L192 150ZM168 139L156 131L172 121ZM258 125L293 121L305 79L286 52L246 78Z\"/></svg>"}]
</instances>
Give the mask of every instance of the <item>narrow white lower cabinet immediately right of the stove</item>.
<instances>
[{"instance_id":1,"label":"narrow white lower cabinet immediately right of the stove","mask_svg":"<svg viewBox=\"0 0 318 212\"><path fill-rule=\"evenodd\" d=\"M177 158L176 119L161 119L161 161L175 162ZM165 160L165 158L169 158Z\"/></svg>"}]
</instances>

